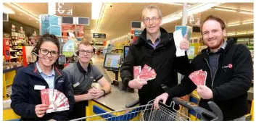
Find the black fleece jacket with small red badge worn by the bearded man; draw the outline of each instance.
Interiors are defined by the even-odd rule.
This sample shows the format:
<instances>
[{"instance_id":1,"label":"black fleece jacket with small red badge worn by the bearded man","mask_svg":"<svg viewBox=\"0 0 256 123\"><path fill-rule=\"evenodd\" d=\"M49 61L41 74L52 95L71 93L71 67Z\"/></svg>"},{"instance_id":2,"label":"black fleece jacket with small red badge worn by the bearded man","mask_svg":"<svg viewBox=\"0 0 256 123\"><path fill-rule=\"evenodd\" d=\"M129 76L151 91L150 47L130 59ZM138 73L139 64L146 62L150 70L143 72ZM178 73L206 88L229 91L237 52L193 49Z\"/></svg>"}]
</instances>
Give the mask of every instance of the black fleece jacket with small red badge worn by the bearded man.
<instances>
[{"instance_id":1,"label":"black fleece jacket with small red badge worn by the bearded man","mask_svg":"<svg viewBox=\"0 0 256 123\"><path fill-rule=\"evenodd\" d=\"M252 56L249 49L242 44L235 44L231 38L226 48L218 56L218 68L211 77L209 54L204 49L191 62L192 71L207 71L205 85L212 90L213 98L202 99L199 106L210 109L208 101L214 101L223 111L224 120L239 118L248 112L247 91L252 84ZM191 93L197 86L184 77L181 84L168 90L169 98L181 97Z\"/></svg>"}]
</instances>

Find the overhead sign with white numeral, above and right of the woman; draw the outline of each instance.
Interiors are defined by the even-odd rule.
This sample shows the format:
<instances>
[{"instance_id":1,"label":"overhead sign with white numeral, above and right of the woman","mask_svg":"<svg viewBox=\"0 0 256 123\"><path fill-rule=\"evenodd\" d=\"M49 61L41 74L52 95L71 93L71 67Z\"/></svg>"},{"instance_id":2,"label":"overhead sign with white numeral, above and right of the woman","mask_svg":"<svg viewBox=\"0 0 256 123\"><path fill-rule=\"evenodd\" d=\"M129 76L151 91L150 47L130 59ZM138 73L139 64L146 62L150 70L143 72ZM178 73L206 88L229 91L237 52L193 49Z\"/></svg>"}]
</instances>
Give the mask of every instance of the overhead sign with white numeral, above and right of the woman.
<instances>
[{"instance_id":1,"label":"overhead sign with white numeral, above and right of the woman","mask_svg":"<svg viewBox=\"0 0 256 123\"><path fill-rule=\"evenodd\" d=\"M73 16L73 3L56 3L56 14L64 16Z\"/></svg>"}]
</instances>

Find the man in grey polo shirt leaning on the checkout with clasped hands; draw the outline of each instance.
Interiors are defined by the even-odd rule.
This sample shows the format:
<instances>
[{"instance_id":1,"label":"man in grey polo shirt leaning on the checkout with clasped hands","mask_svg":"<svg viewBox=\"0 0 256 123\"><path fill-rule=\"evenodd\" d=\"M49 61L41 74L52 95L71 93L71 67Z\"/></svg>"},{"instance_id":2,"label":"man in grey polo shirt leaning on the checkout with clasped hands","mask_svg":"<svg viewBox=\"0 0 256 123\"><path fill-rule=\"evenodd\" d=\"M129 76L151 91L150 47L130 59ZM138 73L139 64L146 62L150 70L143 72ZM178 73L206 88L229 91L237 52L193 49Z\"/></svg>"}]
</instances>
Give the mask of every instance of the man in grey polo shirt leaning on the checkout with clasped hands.
<instances>
[{"instance_id":1,"label":"man in grey polo shirt leaning on the checkout with clasped hands","mask_svg":"<svg viewBox=\"0 0 256 123\"><path fill-rule=\"evenodd\" d=\"M89 63L93 56L93 47L90 43L83 41L78 48L78 62L70 64L63 69L71 82L75 96L75 107L70 113L70 119L85 117L88 100L104 96L111 90L110 83L99 72L99 69ZM101 89L90 89L94 80L102 86Z\"/></svg>"}]
</instances>

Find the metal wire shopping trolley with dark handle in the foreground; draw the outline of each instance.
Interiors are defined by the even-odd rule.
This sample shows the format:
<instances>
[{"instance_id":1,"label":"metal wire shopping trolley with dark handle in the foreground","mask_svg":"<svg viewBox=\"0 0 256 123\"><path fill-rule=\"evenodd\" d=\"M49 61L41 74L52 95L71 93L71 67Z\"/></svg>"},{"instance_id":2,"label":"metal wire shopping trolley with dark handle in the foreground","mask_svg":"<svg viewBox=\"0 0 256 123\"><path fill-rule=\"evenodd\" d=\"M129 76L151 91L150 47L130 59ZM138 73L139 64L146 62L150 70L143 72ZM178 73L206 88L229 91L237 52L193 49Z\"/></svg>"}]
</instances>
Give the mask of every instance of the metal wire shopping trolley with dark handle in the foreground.
<instances>
[{"instance_id":1,"label":"metal wire shopping trolley with dark handle in the foreground","mask_svg":"<svg viewBox=\"0 0 256 123\"><path fill-rule=\"evenodd\" d=\"M149 101L146 105L135 106L125 109L120 109L116 111L110 111L102 114L96 114L92 116L81 117L78 119L73 119L73 121L79 120L95 120L95 121L129 121L129 120L139 120L139 121L188 121L189 116L182 114L177 111L174 107L176 104L184 106L188 109L192 109L197 112L197 114L203 114L201 120L223 120L223 114L220 108L212 101L208 102L210 109L203 109L193 103L183 101L180 98L173 98L170 106L159 103L159 109L154 109L154 100ZM134 106L136 103L131 104ZM207 118L205 118L205 116ZM209 119L210 117L210 119Z\"/></svg>"}]
</instances>

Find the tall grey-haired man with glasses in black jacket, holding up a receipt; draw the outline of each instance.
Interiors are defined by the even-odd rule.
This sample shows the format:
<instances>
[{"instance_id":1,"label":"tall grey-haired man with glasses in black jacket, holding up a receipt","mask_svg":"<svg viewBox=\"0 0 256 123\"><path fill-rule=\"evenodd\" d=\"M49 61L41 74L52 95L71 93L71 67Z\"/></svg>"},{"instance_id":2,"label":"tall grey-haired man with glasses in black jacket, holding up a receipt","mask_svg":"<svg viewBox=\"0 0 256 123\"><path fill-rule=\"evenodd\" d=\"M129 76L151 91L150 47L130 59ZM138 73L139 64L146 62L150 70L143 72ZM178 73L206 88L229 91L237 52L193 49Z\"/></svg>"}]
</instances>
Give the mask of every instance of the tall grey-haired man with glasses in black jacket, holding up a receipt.
<instances>
[{"instance_id":1,"label":"tall grey-haired man with glasses in black jacket, holding up a receipt","mask_svg":"<svg viewBox=\"0 0 256 123\"><path fill-rule=\"evenodd\" d=\"M136 43L132 43L128 56L125 57L120 75L125 85L139 89L140 104L144 105L164 93L161 85L169 88L178 84L178 73L189 75L191 72L188 56L176 56L176 45L173 33L167 33L160 27L162 15L160 9L154 6L146 7L142 12L146 29L141 33ZM188 49L189 41L183 38L180 48ZM133 66L148 65L157 73L154 80L139 80L133 78Z\"/></svg>"}]
</instances>

